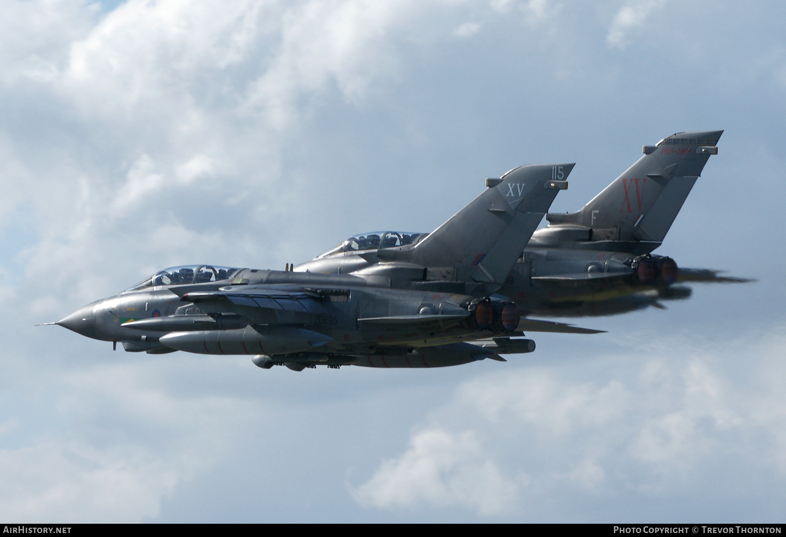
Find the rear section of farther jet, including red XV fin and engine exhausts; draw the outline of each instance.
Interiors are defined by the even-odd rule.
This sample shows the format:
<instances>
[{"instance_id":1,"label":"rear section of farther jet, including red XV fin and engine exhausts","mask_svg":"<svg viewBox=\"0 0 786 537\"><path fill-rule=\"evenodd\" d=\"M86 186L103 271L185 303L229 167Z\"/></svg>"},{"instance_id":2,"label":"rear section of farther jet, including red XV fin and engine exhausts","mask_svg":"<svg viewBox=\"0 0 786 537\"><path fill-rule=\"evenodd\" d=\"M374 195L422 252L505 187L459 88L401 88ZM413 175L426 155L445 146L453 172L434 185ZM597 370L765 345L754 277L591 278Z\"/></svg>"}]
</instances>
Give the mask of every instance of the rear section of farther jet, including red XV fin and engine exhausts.
<instances>
[{"instance_id":1,"label":"rear section of farther jet, including red XV fin and engine exhausts","mask_svg":"<svg viewBox=\"0 0 786 537\"><path fill-rule=\"evenodd\" d=\"M678 268L652 254L663 243L722 130L675 133L655 145L575 213L549 213L499 290L541 316L604 316L689 298L676 283L744 283L709 269Z\"/></svg>"}]
</instances>

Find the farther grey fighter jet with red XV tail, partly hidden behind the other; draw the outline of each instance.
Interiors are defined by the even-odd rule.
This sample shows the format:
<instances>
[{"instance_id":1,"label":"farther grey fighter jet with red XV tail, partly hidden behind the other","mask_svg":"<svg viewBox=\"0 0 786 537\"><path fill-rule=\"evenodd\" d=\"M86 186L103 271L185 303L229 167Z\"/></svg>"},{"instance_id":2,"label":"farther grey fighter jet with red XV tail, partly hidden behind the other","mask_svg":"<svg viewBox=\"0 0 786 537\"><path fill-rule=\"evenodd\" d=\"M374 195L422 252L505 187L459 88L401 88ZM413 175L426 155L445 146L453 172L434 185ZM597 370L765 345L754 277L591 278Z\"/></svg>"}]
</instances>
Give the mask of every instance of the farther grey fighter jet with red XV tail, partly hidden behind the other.
<instances>
[{"instance_id":1,"label":"farther grey fighter jet with red XV tail, partly hidden behind the other","mask_svg":"<svg viewBox=\"0 0 786 537\"><path fill-rule=\"evenodd\" d=\"M688 298L690 287L673 285L678 282L749 281L708 269L680 271L673 259L652 254L707 159L718 154L722 133L676 133L644 146L641 159L582 210L547 214L549 226L534 232L527 247L518 252L511 272L503 278L495 276L494 281L502 283L498 294L515 301L521 311L538 316L601 316ZM557 167L553 173L559 181L564 170ZM490 178L486 184L498 188L500 181ZM427 238L428 233L418 232L363 233L294 270L393 273L399 261L397 250ZM460 289L467 275L449 266L450 262L445 265L428 265L422 274L399 271L391 283L401 288ZM549 326L533 323L528 328L540 329L549 331Z\"/></svg>"}]
</instances>

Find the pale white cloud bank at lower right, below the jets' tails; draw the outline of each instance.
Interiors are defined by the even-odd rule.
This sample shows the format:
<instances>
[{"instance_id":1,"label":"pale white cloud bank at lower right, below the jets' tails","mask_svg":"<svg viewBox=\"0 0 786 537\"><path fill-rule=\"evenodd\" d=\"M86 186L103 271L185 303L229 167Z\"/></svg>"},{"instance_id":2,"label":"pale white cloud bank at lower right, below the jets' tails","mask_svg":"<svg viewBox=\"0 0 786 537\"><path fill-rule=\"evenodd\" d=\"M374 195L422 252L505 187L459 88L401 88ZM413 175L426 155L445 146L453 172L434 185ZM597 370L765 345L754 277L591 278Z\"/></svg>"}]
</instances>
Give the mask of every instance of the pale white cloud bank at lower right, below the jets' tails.
<instances>
[{"instance_id":1,"label":"pale white cloud bank at lower right, below the jets' tails","mask_svg":"<svg viewBox=\"0 0 786 537\"><path fill-rule=\"evenodd\" d=\"M662 341L653 354L671 360L622 366L626 356L610 357L622 369L605 383L543 367L465 382L353 497L378 508L468 506L528 520L556 520L533 506L580 509L626 491L646 504L700 488L696 513L711 512L718 500L745 502L761 473L786 483L786 339L750 343L703 349ZM757 360L740 383L733 363L743 353ZM727 473L735 487L714 490ZM625 505L607 512L622 515Z\"/></svg>"}]
</instances>

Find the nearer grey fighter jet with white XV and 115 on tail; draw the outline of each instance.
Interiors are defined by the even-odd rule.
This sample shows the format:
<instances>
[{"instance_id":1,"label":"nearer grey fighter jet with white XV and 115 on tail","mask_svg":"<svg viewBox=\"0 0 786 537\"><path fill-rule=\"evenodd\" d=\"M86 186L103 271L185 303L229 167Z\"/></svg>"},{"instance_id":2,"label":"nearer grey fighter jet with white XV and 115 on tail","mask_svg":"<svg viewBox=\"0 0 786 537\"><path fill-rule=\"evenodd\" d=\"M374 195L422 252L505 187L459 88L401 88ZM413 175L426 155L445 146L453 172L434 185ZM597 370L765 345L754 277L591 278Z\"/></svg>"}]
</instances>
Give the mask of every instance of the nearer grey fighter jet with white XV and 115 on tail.
<instances>
[{"instance_id":1,"label":"nearer grey fighter jet with white XV and 115 on tail","mask_svg":"<svg viewBox=\"0 0 786 537\"><path fill-rule=\"evenodd\" d=\"M492 294L573 166L521 166L428 236L392 245L380 237L375 255L386 262L367 271L168 268L56 324L131 352L246 354L259 367L296 371L505 361L501 354L532 352L534 342L519 337L516 305Z\"/></svg>"}]
</instances>

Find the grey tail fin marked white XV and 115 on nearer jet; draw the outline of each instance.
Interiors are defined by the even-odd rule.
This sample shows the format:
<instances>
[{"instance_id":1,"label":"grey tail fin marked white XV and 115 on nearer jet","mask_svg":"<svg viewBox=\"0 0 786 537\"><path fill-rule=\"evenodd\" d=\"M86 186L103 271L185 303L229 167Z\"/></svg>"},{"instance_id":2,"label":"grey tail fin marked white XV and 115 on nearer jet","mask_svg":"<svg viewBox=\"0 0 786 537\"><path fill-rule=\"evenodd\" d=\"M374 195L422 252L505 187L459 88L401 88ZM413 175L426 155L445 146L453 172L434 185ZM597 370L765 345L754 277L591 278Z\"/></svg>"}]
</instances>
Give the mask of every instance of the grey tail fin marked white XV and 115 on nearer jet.
<instances>
[{"instance_id":1,"label":"grey tail fin marked white XV and 115 on nearer jet","mask_svg":"<svg viewBox=\"0 0 786 537\"><path fill-rule=\"evenodd\" d=\"M410 261L454 267L458 281L502 283L574 164L520 166L410 250Z\"/></svg>"}]
</instances>

